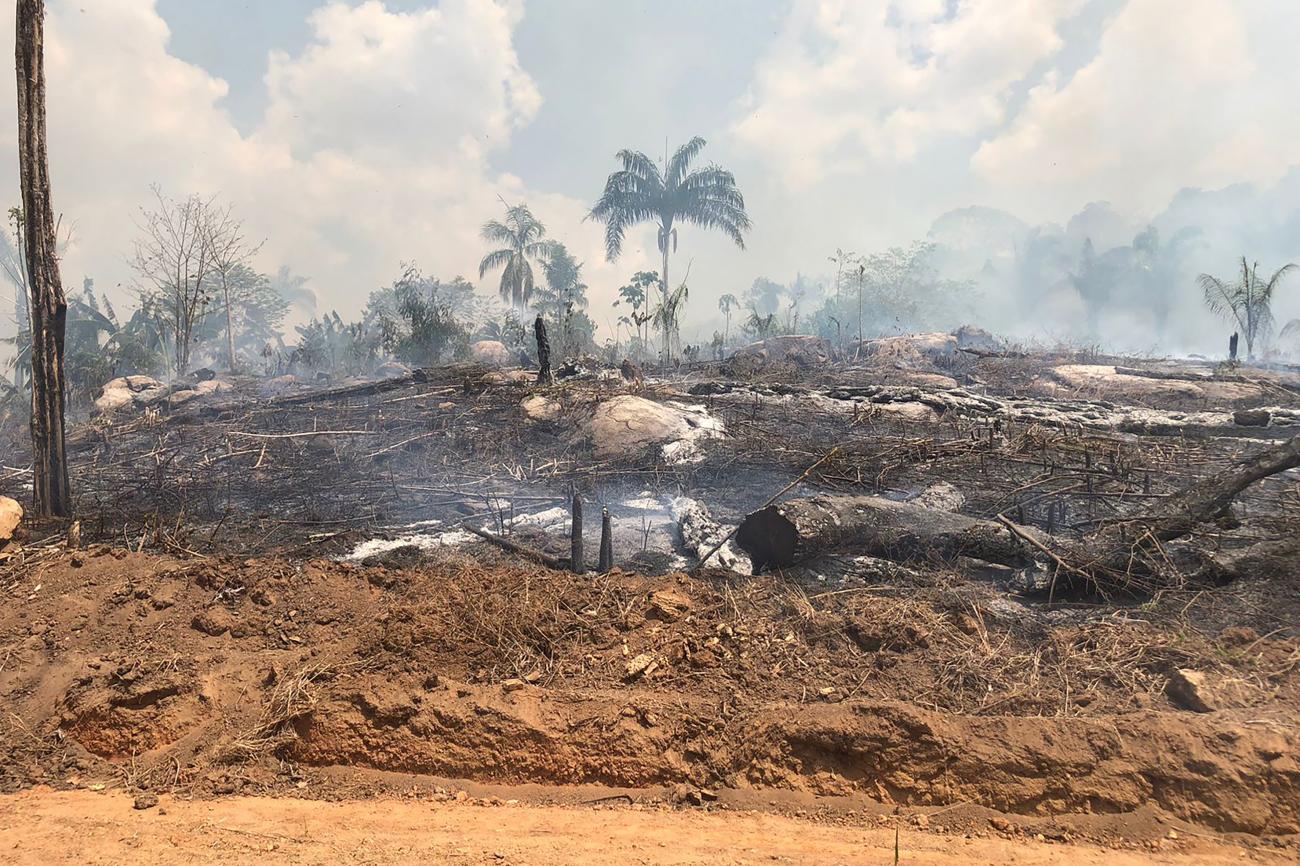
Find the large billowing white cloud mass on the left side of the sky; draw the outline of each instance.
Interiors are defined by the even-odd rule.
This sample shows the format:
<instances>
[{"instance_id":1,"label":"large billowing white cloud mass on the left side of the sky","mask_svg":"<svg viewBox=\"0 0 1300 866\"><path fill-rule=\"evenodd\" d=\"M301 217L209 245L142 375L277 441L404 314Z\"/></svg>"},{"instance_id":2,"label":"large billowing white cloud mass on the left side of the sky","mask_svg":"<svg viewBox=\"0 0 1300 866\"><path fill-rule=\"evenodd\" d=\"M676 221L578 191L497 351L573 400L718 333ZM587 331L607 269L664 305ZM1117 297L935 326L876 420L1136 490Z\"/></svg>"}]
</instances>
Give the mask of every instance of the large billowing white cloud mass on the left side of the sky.
<instances>
[{"instance_id":1,"label":"large billowing white cloud mass on the left side of the sky","mask_svg":"<svg viewBox=\"0 0 1300 866\"><path fill-rule=\"evenodd\" d=\"M53 0L51 174L74 229L65 283L87 274L130 285L133 215L156 182L173 195L221 194L266 239L264 268L307 274L344 315L403 260L476 278L478 226L502 209L498 196L529 200L612 298L637 259L606 265L584 203L489 165L541 105L514 48L521 14L494 0L411 13L330 3L312 13L306 49L272 55L264 121L240 135L221 104L225 82L168 53L155 0ZM0 44L12 44L12 16L0 23ZM12 114L0 137L16 164ZM16 178L0 195L17 200ZM484 290L494 289L489 274Z\"/></svg>"}]
</instances>

